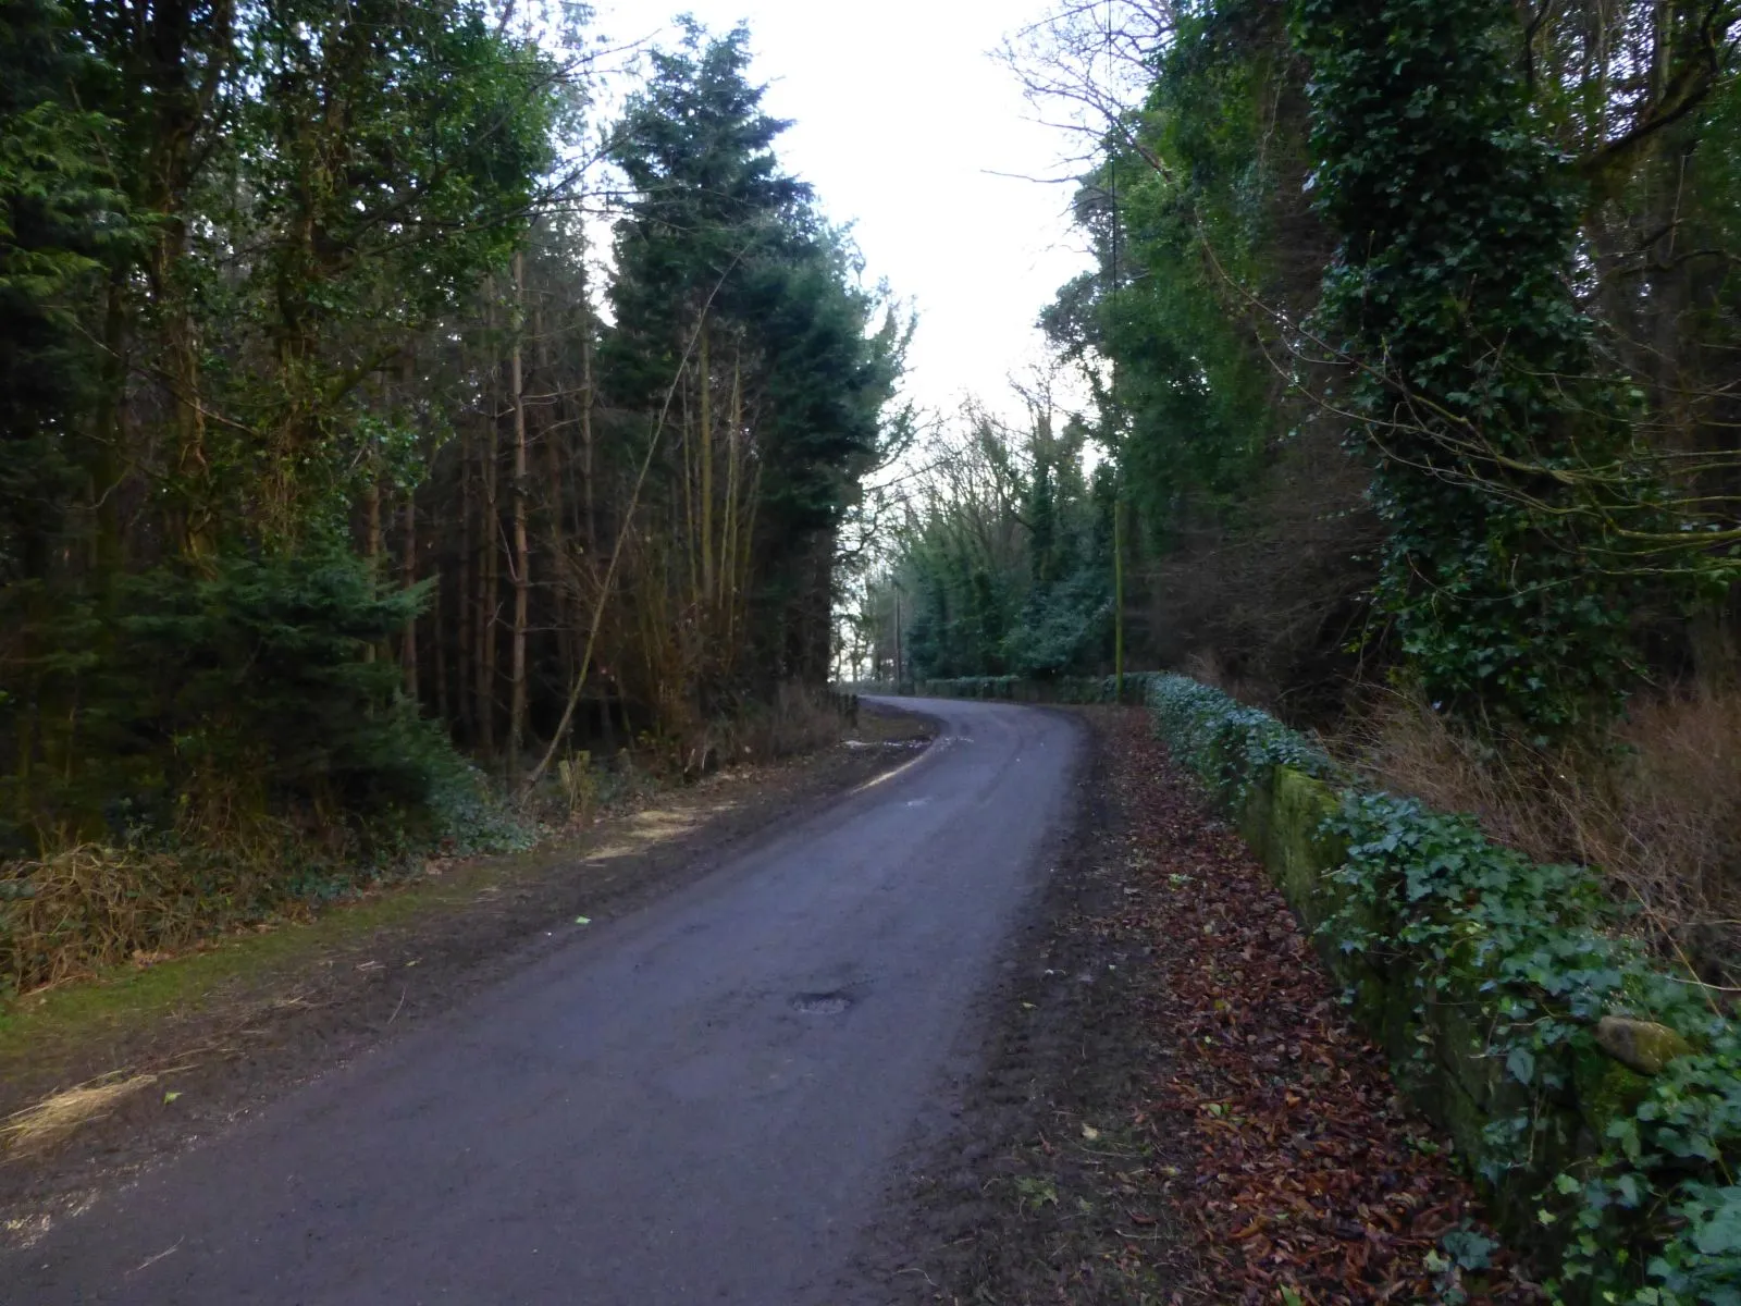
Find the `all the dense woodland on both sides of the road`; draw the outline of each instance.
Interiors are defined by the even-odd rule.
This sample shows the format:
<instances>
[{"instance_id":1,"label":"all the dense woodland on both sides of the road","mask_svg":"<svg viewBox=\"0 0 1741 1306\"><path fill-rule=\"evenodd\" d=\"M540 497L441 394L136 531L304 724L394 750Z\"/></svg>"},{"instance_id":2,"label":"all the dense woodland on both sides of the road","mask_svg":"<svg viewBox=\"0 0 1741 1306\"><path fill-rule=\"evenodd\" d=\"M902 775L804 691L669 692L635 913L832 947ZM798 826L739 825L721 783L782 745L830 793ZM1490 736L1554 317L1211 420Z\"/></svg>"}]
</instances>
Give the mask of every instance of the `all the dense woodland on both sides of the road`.
<instances>
[{"instance_id":1,"label":"all the dense woodland on both sides of the road","mask_svg":"<svg viewBox=\"0 0 1741 1306\"><path fill-rule=\"evenodd\" d=\"M1060 7L1092 268L924 441L749 35L587 23L0 9L12 916L245 919L839 665L1186 667L1736 972L1741 5Z\"/></svg>"}]
</instances>

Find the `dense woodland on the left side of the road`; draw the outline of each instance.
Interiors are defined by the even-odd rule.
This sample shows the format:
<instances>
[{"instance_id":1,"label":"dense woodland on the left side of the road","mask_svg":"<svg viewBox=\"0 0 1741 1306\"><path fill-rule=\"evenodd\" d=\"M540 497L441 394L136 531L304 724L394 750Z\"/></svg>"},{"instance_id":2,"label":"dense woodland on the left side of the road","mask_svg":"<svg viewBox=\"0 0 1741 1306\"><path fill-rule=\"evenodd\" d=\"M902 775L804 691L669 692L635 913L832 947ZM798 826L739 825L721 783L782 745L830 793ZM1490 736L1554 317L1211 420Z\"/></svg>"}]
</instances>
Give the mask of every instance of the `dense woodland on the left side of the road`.
<instances>
[{"instance_id":1,"label":"dense woodland on the left side of the road","mask_svg":"<svg viewBox=\"0 0 1741 1306\"><path fill-rule=\"evenodd\" d=\"M0 7L0 984L810 710L907 326L745 30L585 23Z\"/></svg>"}]
</instances>

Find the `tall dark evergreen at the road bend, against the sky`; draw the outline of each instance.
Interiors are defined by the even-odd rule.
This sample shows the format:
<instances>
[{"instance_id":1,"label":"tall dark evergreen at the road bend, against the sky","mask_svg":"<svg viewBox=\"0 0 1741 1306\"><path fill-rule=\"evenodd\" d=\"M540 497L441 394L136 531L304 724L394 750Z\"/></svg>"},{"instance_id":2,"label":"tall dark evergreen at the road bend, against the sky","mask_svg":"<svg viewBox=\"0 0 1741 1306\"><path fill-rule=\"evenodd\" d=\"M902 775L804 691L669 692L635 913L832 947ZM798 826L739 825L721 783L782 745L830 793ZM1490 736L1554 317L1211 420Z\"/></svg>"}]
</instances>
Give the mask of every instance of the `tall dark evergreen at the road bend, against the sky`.
<instances>
[{"instance_id":1,"label":"tall dark evergreen at the road bend, against the sky","mask_svg":"<svg viewBox=\"0 0 1741 1306\"><path fill-rule=\"evenodd\" d=\"M602 362L648 428L679 387L669 493L693 555L703 698L827 677L834 533L877 458L905 345L893 313L870 329L857 256L780 171L785 124L761 110L747 42L686 24L611 145L635 199L616 225ZM747 568L729 596L728 555Z\"/></svg>"}]
</instances>

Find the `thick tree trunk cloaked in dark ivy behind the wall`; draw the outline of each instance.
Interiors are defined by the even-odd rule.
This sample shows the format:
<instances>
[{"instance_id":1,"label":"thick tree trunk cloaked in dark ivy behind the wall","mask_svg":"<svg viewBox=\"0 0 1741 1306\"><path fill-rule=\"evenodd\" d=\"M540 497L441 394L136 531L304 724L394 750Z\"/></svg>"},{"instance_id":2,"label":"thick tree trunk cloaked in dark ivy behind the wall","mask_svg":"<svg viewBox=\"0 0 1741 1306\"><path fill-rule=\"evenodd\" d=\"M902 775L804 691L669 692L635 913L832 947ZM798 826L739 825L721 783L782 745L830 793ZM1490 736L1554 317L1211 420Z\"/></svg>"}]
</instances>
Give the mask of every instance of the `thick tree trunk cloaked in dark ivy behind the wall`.
<instances>
[{"instance_id":1,"label":"thick tree trunk cloaked in dark ivy behind the wall","mask_svg":"<svg viewBox=\"0 0 1741 1306\"><path fill-rule=\"evenodd\" d=\"M1530 134L1509 0L1295 0L1320 324L1375 475L1379 606L1428 697L1555 733L1612 709L1624 589L1576 486L1619 451L1570 293L1574 178Z\"/></svg>"}]
</instances>

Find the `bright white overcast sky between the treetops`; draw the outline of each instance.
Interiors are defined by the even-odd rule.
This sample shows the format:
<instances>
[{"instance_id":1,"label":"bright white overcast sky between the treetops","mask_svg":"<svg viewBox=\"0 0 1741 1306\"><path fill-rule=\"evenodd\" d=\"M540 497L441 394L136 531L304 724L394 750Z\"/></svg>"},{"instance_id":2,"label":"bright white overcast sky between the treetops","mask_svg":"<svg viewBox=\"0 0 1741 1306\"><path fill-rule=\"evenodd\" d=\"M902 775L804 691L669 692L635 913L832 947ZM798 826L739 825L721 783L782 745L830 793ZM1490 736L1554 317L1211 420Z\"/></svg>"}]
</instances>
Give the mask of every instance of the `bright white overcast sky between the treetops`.
<instances>
[{"instance_id":1,"label":"bright white overcast sky between the treetops","mask_svg":"<svg viewBox=\"0 0 1741 1306\"><path fill-rule=\"evenodd\" d=\"M865 279L919 312L907 392L952 411L965 394L1006 407L1006 378L1043 355L1034 319L1086 268L1059 176L1071 141L1034 122L1013 75L989 57L1043 0L601 0L616 40L691 12L710 31L743 19L770 113L792 118L776 150L853 223Z\"/></svg>"}]
</instances>

